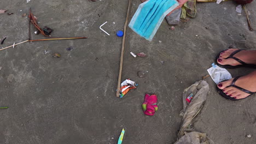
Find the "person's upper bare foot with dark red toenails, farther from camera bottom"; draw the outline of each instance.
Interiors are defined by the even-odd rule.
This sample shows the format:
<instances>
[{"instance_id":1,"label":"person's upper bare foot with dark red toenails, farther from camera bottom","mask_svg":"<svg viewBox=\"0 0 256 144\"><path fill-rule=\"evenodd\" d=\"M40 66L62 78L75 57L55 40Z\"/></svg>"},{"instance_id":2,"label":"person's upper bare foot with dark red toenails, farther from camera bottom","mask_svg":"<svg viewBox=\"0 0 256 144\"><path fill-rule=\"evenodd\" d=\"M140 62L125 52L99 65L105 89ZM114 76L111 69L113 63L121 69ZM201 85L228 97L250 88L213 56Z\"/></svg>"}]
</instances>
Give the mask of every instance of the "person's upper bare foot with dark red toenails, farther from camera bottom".
<instances>
[{"instance_id":1,"label":"person's upper bare foot with dark red toenails, farther from camera bottom","mask_svg":"<svg viewBox=\"0 0 256 144\"><path fill-rule=\"evenodd\" d=\"M241 63L237 62L235 59L228 58L232 52L238 49L228 49L222 53L220 53L219 58L217 59L217 63L221 65L240 65ZM233 57L241 59L241 61L247 64L255 64L256 65L256 50L247 50L247 51L240 51L237 52Z\"/></svg>"}]
</instances>

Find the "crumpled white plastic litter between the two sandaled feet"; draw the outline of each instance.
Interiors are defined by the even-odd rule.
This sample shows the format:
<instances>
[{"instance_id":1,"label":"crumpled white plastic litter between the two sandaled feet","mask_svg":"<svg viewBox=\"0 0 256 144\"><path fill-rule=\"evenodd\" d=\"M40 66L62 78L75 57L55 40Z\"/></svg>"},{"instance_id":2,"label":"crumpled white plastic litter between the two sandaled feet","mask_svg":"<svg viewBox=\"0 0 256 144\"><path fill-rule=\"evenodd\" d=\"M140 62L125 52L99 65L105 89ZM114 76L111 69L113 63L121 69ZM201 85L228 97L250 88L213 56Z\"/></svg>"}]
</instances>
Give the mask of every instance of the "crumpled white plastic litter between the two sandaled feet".
<instances>
[{"instance_id":1,"label":"crumpled white plastic litter between the two sandaled feet","mask_svg":"<svg viewBox=\"0 0 256 144\"><path fill-rule=\"evenodd\" d=\"M214 65L210 69L207 69L208 73L212 77L212 80L218 84L224 80L229 80L232 78L228 70L220 68L218 65Z\"/></svg>"}]
</instances>

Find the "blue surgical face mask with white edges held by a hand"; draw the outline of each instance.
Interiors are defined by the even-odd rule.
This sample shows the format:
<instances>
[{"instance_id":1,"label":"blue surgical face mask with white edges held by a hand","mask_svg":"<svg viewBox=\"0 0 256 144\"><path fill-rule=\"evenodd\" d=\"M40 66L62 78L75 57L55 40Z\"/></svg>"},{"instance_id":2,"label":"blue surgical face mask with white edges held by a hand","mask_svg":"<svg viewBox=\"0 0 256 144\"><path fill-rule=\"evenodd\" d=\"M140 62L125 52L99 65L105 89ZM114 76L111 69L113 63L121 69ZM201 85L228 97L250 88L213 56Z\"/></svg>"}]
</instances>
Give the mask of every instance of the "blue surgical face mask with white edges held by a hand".
<instances>
[{"instance_id":1,"label":"blue surgical face mask with white edges held by a hand","mask_svg":"<svg viewBox=\"0 0 256 144\"><path fill-rule=\"evenodd\" d=\"M141 37L152 40L165 16L178 7L176 0L149 0L139 5L129 27Z\"/></svg>"}]
</instances>

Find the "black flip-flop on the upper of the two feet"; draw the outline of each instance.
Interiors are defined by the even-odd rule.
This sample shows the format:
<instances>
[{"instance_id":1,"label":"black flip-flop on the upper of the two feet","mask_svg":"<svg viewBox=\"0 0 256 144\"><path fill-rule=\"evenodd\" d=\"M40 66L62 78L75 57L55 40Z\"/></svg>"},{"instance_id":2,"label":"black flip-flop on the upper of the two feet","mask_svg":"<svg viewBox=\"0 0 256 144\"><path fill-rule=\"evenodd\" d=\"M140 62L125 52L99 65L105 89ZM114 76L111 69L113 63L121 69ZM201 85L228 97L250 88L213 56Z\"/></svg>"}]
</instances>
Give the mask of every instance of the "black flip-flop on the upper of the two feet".
<instances>
[{"instance_id":1,"label":"black flip-flop on the upper of the two feet","mask_svg":"<svg viewBox=\"0 0 256 144\"><path fill-rule=\"evenodd\" d=\"M224 51L226 51L226 50L224 50ZM222 51L222 52L224 52L224 51ZM229 64L226 64L226 65L221 65L221 64L219 64L217 61L218 61L218 58L219 58L220 53L222 53L222 52L220 52L220 53L216 56L215 61L216 61L217 65L218 65L219 67L222 67L222 68L225 68L225 69L234 69L234 68L240 68L240 67L256 68L256 65L254 65L254 64L247 64L247 63L241 61L241 59L234 57L234 55L235 55L237 52L240 52L240 51L245 51L245 50L243 50L243 49L236 50L236 51L232 52L229 57L224 58L224 59L228 59L228 58L235 59L238 63L241 63L240 65L232 66L232 65L229 65Z\"/></svg>"}]
</instances>

